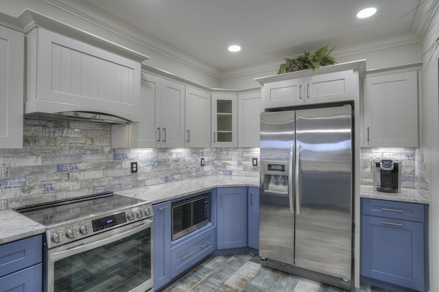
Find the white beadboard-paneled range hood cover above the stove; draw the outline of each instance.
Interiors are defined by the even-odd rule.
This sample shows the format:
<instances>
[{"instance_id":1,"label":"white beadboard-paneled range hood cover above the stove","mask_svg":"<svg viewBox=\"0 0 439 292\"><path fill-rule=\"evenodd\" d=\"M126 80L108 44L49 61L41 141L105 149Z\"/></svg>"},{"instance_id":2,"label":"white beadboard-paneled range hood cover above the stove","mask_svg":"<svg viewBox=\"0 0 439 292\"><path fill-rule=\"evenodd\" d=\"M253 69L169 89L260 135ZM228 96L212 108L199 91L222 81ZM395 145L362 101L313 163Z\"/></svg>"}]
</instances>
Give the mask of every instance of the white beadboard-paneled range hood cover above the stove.
<instances>
[{"instance_id":1,"label":"white beadboard-paneled range hood cover above the stove","mask_svg":"<svg viewBox=\"0 0 439 292\"><path fill-rule=\"evenodd\" d=\"M104 112L137 121L141 62L41 27L27 34L25 113Z\"/></svg>"}]
</instances>

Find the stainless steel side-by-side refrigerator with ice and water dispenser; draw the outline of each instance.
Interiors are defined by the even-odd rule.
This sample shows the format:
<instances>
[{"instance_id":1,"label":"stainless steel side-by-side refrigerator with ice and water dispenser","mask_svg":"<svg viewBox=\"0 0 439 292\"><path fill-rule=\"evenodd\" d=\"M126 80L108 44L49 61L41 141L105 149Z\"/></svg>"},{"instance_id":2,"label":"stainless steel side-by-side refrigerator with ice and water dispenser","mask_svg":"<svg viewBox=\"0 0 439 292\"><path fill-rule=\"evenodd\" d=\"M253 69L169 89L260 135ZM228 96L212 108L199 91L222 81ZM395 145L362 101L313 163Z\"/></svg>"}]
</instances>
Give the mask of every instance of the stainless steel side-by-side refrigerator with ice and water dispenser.
<instances>
[{"instance_id":1,"label":"stainless steel side-by-side refrigerator with ice and water dispenser","mask_svg":"<svg viewBox=\"0 0 439 292\"><path fill-rule=\"evenodd\" d=\"M261 114L261 265L352 289L353 108Z\"/></svg>"}]
</instances>

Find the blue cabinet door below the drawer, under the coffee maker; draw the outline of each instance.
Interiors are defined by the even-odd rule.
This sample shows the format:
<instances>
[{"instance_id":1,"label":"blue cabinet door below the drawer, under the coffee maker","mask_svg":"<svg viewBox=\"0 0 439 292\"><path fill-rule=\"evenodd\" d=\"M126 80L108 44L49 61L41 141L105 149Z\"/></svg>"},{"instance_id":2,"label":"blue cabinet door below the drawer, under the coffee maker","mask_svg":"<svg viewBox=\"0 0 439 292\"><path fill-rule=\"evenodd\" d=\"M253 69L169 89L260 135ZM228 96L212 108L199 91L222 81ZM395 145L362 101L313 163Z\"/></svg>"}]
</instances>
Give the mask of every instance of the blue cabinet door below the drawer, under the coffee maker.
<instances>
[{"instance_id":1,"label":"blue cabinet door below the drawer, under the coffee maker","mask_svg":"<svg viewBox=\"0 0 439 292\"><path fill-rule=\"evenodd\" d=\"M362 216L361 274L424 291L423 223Z\"/></svg>"}]
</instances>

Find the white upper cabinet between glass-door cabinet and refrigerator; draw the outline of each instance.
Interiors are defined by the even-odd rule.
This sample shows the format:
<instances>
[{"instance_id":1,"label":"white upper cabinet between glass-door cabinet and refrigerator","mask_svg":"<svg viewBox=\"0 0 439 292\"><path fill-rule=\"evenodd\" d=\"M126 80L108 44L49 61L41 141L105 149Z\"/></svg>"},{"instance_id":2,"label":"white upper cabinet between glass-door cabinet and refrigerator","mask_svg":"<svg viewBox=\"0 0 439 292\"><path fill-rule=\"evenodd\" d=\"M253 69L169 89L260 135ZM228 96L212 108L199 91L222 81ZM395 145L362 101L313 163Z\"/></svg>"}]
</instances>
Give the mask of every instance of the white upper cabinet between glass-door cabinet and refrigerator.
<instances>
[{"instance_id":1,"label":"white upper cabinet between glass-door cabinet and refrigerator","mask_svg":"<svg viewBox=\"0 0 439 292\"><path fill-rule=\"evenodd\" d=\"M238 146L259 147L261 90L238 94Z\"/></svg>"}]
</instances>

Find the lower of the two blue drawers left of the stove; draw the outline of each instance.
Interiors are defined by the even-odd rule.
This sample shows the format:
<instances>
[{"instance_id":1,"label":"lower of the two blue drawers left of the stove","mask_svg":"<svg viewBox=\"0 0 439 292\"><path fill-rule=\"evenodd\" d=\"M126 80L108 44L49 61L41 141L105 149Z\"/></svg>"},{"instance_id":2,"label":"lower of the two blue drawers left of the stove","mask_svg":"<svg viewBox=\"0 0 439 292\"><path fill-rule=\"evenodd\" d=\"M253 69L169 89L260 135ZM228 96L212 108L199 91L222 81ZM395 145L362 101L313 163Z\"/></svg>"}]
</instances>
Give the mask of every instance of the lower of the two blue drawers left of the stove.
<instances>
[{"instance_id":1,"label":"lower of the two blue drawers left of the stove","mask_svg":"<svg viewBox=\"0 0 439 292\"><path fill-rule=\"evenodd\" d=\"M0 278L0 291L42 291L43 264L39 263Z\"/></svg>"}]
</instances>

